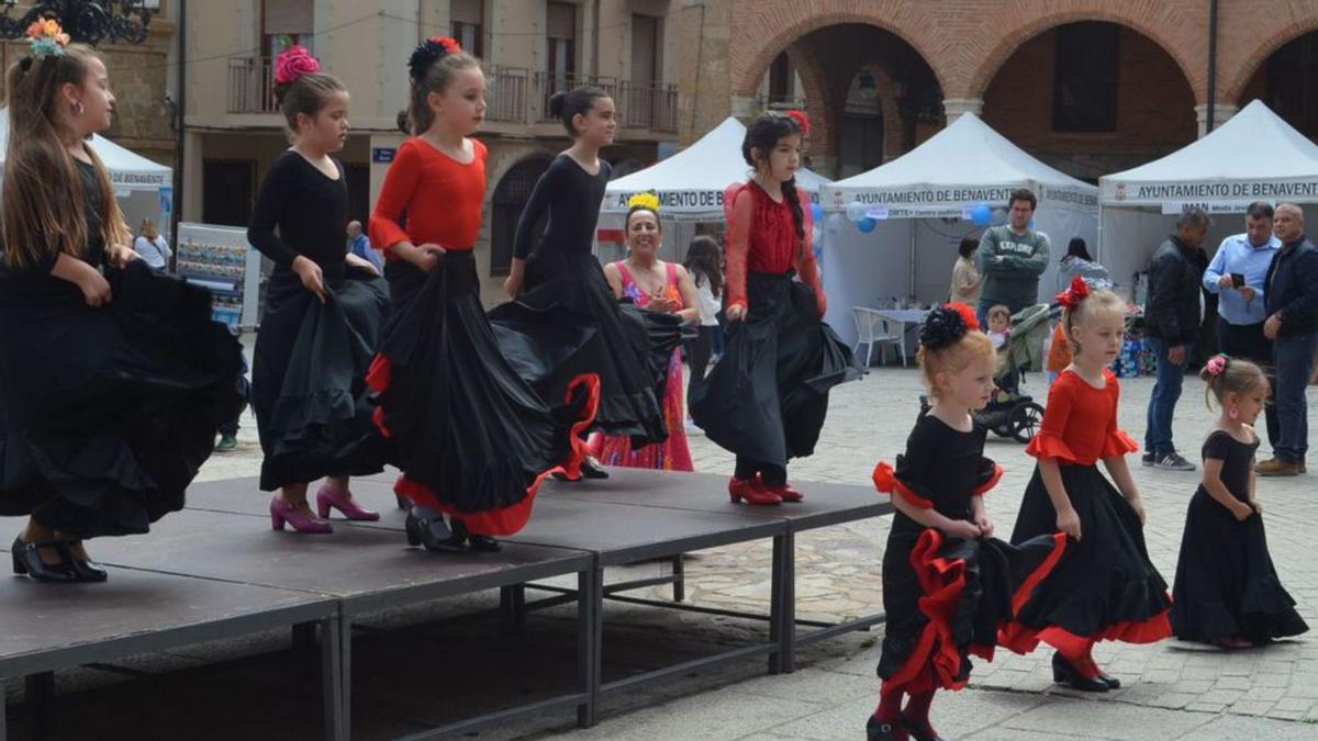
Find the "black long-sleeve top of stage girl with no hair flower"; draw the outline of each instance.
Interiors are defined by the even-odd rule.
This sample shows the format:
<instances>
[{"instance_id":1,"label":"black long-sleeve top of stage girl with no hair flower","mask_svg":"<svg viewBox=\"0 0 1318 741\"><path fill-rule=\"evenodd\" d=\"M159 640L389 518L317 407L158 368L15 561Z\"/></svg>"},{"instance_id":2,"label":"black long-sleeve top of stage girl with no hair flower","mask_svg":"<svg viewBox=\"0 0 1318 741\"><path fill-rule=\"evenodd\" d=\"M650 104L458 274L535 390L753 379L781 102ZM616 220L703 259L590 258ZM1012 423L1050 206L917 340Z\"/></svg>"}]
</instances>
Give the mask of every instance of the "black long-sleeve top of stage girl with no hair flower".
<instances>
[{"instance_id":1,"label":"black long-sleeve top of stage girl with no hair flower","mask_svg":"<svg viewBox=\"0 0 1318 741\"><path fill-rule=\"evenodd\" d=\"M546 208L550 211L550 223L540 239L542 245L563 252L590 252L600 206L604 203L604 186L612 173L613 167L604 160L600 160L600 171L592 175L572 157L559 154L535 182L531 198L522 208L522 216L517 220L513 256L526 260L531 254L535 247L531 244L531 229Z\"/></svg>"}]
</instances>

